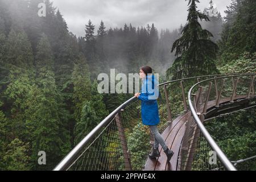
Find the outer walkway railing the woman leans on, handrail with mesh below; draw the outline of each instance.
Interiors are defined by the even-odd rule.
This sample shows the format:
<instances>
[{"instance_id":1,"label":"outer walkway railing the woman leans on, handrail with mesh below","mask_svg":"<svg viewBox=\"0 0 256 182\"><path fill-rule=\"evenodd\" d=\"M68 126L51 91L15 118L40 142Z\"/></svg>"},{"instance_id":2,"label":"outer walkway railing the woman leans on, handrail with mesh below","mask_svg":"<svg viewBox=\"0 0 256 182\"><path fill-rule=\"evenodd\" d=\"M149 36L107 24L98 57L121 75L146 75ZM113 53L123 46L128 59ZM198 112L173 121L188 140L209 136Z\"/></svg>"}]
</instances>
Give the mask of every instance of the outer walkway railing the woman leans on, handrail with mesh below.
<instances>
[{"instance_id":1,"label":"outer walkway railing the woman leans on, handrail with mesh below","mask_svg":"<svg viewBox=\"0 0 256 182\"><path fill-rule=\"evenodd\" d=\"M238 75L241 74L198 76L159 84L160 131L171 123L172 118L188 111L185 93L195 82L201 78ZM181 92L174 93L174 86L180 86ZM149 130L141 125L140 102L132 97L90 131L53 170L142 169L151 148L148 138Z\"/></svg>"}]
</instances>

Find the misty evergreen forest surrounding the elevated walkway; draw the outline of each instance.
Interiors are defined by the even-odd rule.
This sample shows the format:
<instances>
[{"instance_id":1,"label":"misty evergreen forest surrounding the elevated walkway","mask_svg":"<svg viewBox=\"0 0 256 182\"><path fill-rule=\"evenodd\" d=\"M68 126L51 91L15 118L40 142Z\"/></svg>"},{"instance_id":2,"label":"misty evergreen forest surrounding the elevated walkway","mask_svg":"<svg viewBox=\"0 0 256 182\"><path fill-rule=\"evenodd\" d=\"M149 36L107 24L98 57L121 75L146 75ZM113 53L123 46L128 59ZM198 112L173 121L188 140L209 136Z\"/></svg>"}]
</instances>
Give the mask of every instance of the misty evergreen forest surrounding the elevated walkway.
<instances>
[{"instance_id":1,"label":"misty evergreen forest surrounding the elevated walkway","mask_svg":"<svg viewBox=\"0 0 256 182\"><path fill-rule=\"evenodd\" d=\"M160 83L256 72L254 0L232 0L224 17L219 12L210 15L209 7L197 11L199 0L189 0L187 23L174 30L129 22L107 29L104 20L87 19L80 37L69 31L50 0L44 1L46 16L39 17L42 2L0 0L0 170L53 169L102 119L133 97L97 92L98 74L109 74L112 68L128 74L150 65L160 74ZM98 30L94 23L100 25ZM245 124L238 123L244 130L234 125L236 119L221 123L233 132L226 131L230 156L232 147L242 147L244 141L255 148L255 115L240 113L240 118L247 118ZM220 130L218 135L224 132L221 126L212 127ZM230 142L236 137L240 142ZM217 140L225 146L221 137ZM39 151L47 152L46 165L38 165ZM255 163L242 169L256 170Z\"/></svg>"}]
</instances>

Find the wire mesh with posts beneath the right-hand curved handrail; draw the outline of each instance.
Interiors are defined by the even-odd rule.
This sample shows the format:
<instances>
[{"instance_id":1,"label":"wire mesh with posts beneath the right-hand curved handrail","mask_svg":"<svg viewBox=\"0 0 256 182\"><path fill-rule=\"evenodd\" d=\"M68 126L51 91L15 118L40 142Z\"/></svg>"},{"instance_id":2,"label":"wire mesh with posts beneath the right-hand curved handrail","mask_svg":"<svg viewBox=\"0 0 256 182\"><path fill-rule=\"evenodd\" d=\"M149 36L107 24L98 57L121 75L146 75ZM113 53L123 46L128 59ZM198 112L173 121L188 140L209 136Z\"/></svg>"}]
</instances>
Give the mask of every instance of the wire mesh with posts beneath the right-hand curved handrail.
<instances>
[{"instance_id":1,"label":"wire mesh with posts beneath the right-hand curved handrail","mask_svg":"<svg viewBox=\"0 0 256 182\"><path fill-rule=\"evenodd\" d=\"M192 90L192 105L200 121L204 123L210 114L218 115L224 109L229 113L245 105L253 104L255 98L255 80L253 76L216 78L202 82ZM250 97L250 100L246 99ZM218 101L219 100L219 101ZM242 105L241 100L246 104ZM226 107L226 108L225 108ZM211 111L211 109L215 109ZM217 114L216 114L217 113ZM225 170L216 152L201 133L195 118L189 117L179 155L180 170Z\"/></svg>"}]
</instances>

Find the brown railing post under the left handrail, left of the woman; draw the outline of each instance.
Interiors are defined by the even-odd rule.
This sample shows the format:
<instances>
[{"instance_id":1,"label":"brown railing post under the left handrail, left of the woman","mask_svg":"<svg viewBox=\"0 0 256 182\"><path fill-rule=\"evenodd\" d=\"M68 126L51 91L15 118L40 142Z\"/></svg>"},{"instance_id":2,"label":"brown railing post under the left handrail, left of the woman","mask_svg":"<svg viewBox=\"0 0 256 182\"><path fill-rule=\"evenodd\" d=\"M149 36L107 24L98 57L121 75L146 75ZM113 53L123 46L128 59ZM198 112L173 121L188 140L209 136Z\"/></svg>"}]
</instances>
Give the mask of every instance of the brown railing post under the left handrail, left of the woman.
<instances>
[{"instance_id":1,"label":"brown railing post under the left handrail, left of the woman","mask_svg":"<svg viewBox=\"0 0 256 182\"><path fill-rule=\"evenodd\" d=\"M121 111L123 111L123 109ZM119 139L121 140L121 144L122 144L123 158L125 159L125 169L126 171L131 171L132 170L131 158L130 158L130 154L128 153L128 147L127 147L127 142L125 138L125 130L123 130L123 127L122 127L120 112L115 116L115 122L117 123Z\"/></svg>"}]
</instances>

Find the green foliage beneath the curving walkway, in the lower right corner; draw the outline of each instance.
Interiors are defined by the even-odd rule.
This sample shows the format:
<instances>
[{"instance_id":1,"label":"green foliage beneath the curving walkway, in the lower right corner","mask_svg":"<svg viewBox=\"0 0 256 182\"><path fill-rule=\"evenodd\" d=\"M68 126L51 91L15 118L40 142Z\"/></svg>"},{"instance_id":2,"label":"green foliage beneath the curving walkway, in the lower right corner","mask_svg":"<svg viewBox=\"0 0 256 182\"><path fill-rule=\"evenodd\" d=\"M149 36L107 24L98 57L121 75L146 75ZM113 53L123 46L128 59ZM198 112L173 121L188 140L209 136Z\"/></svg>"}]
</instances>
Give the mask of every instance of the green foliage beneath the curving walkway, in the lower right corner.
<instances>
[{"instance_id":1,"label":"green foliage beneath the curving walkway, in the lower right corner","mask_svg":"<svg viewBox=\"0 0 256 182\"><path fill-rule=\"evenodd\" d=\"M255 109L249 109L213 119L205 126L228 158L237 161L255 155L255 121ZM255 170L255 166L255 159L237 164L239 170Z\"/></svg>"}]
</instances>

